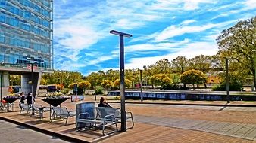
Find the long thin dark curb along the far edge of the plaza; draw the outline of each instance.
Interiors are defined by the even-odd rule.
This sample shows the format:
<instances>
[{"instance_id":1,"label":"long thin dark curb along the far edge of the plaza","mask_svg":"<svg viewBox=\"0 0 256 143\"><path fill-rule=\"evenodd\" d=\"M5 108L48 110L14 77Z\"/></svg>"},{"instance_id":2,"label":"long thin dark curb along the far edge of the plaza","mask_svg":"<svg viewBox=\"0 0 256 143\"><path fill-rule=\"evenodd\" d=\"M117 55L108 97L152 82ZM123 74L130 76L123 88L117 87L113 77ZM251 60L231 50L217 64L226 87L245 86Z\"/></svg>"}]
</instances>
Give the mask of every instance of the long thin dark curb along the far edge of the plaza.
<instances>
[{"instance_id":1,"label":"long thin dark curb along the far edge of the plaza","mask_svg":"<svg viewBox=\"0 0 256 143\"><path fill-rule=\"evenodd\" d=\"M80 101L81 103L85 101ZM93 101L94 102L94 101ZM95 102L98 103L98 102ZM111 102L108 103L120 103ZM139 105L198 105L198 106L226 106L226 107L256 107L255 105L239 105L239 104L206 104L206 103L167 103L167 102L126 102L126 104L139 104Z\"/></svg>"}]
</instances>

